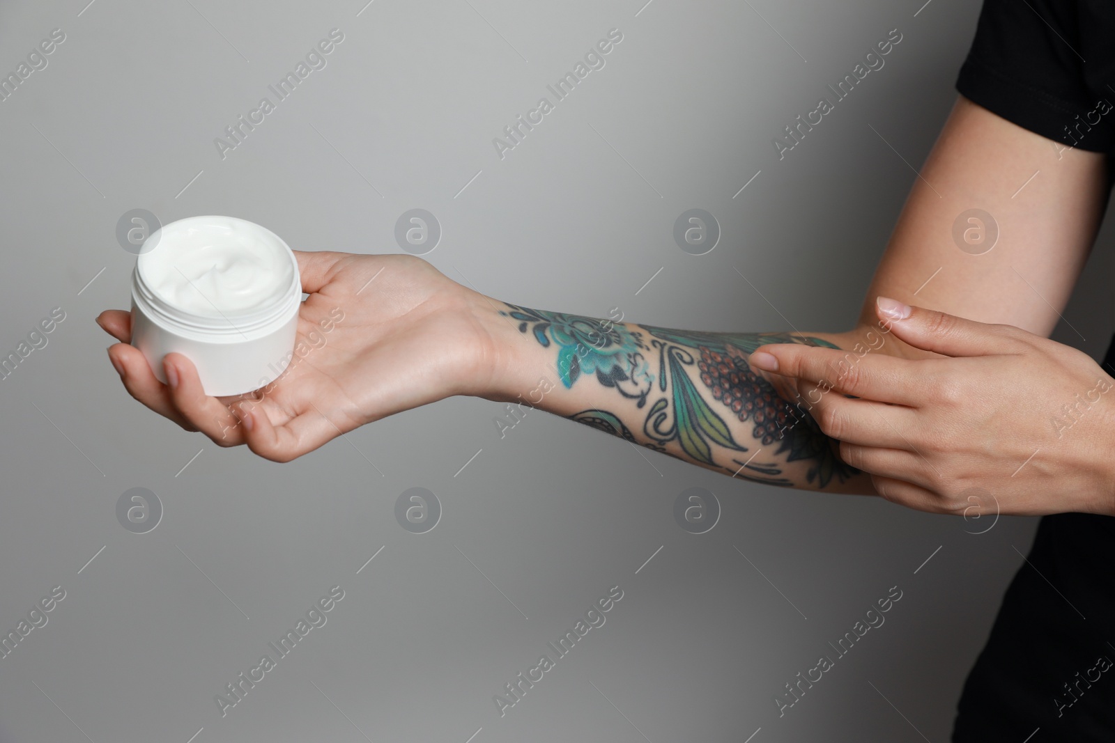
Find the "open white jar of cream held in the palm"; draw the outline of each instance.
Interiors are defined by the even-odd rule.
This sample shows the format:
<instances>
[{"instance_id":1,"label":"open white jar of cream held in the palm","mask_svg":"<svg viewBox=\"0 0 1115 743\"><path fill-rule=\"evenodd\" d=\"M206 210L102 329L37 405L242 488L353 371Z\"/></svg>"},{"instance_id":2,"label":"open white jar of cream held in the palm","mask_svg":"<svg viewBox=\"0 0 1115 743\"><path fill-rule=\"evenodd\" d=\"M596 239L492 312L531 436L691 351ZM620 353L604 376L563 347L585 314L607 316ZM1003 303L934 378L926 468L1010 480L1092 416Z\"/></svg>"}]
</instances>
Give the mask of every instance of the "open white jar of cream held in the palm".
<instances>
[{"instance_id":1,"label":"open white jar of cream held in the palm","mask_svg":"<svg viewBox=\"0 0 1115 743\"><path fill-rule=\"evenodd\" d=\"M147 238L132 276L132 345L166 383L163 356L182 353L206 394L251 392L290 363L302 284L287 243L246 219L198 216Z\"/></svg>"}]
</instances>

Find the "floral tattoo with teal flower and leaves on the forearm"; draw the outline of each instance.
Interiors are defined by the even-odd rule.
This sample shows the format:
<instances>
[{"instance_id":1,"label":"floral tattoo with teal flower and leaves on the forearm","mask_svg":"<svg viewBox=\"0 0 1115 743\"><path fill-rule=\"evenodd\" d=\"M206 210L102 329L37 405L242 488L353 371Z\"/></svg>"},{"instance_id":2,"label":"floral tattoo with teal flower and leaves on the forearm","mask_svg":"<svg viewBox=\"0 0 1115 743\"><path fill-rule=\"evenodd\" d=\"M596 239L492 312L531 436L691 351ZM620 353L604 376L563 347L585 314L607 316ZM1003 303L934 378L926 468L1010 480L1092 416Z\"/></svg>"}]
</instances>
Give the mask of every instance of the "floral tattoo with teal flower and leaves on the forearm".
<instances>
[{"instance_id":1,"label":"floral tattoo with teal flower and leaves on the forearm","mask_svg":"<svg viewBox=\"0 0 1115 743\"><path fill-rule=\"evenodd\" d=\"M740 422L750 421L752 436L763 446L778 441L774 454L786 454L787 462L808 462L809 483L824 488L833 478L844 481L859 471L836 456L832 440L808 413L783 399L747 364L748 354L766 343L837 348L827 341L789 333L705 333L652 325L637 331L608 320L507 306L511 311L501 314L518 320L520 332L532 333L544 348L558 346L558 373L566 388L594 374L603 387L636 400L639 409L655 397L642 421L649 440L643 446L673 456L667 444L676 442L688 459L733 477L792 486L777 463L755 462L755 454L740 457L748 448L733 437L711 399ZM647 356L657 362L657 374ZM591 409L569 418L638 443L612 412ZM724 459L731 466L721 463Z\"/></svg>"}]
</instances>

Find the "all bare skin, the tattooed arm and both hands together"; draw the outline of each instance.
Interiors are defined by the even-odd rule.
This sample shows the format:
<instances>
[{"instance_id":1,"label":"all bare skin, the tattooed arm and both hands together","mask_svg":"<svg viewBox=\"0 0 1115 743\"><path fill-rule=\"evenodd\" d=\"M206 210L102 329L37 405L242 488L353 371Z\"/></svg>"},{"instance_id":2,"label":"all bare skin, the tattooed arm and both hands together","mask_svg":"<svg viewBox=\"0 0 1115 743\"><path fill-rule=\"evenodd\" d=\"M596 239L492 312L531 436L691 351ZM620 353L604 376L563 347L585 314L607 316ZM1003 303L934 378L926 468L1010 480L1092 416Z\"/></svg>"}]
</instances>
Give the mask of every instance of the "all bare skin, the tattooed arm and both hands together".
<instances>
[{"instance_id":1,"label":"all bare skin, the tattooed arm and both hands together","mask_svg":"<svg viewBox=\"0 0 1115 743\"><path fill-rule=\"evenodd\" d=\"M300 341L313 341L331 311L343 320L250 400L205 395L180 354L164 360L171 383L159 383L128 345L127 312L106 311L97 322L119 341L108 354L134 398L221 446L246 444L274 461L468 394L525 402L770 485L882 495L942 512L970 509L964 493L981 487L1001 512L1115 514L1106 462L1115 395L1101 394L1061 431L1086 444L1038 442L1047 413L1109 379L1046 338L1098 228L1103 168L1102 155L1054 146L961 98L914 183L859 325L843 333L710 333L581 317L485 296L413 256L295 252L310 294ZM957 215L973 206L1001 229L983 255L951 239ZM880 295L918 309L895 320L876 306ZM841 360L853 371L842 375ZM837 394L818 394L825 385ZM1035 448L1039 454L1011 478Z\"/></svg>"}]
</instances>

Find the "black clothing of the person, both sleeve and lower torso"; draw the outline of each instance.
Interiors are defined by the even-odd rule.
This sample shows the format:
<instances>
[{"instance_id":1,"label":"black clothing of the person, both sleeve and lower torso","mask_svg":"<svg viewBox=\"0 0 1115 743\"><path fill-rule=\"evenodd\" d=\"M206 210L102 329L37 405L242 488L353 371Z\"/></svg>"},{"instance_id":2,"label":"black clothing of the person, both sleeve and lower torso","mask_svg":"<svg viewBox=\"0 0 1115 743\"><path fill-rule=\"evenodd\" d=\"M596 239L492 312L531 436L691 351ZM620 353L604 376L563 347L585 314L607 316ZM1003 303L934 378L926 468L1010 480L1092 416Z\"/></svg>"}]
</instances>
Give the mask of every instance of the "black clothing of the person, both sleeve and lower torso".
<instances>
[{"instance_id":1,"label":"black clothing of the person, both sleeve and lower torso","mask_svg":"<svg viewBox=\"0 0 1115 743\"><path fill-rule=\"evenodd\" d=\"M985 0L957 89L1058 147L1106 153L1111 185L1115 0ZM1103 366L1115 375L1115 338ZM952 740L1111 743L1113 664L1115 518L1047 516L964 684Z\"/></svg>"}]
</instances>

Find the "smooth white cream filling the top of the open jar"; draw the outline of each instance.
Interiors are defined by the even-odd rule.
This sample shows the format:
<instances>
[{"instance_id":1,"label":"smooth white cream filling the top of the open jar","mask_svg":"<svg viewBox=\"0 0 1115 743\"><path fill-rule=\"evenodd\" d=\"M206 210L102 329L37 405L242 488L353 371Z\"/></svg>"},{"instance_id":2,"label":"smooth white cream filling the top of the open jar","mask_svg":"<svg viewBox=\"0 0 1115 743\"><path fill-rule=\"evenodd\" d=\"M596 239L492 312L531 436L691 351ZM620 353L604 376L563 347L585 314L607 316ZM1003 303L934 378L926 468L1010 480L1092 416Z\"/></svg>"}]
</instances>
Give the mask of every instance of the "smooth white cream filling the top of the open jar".
<instances>
[{"instance_id":1,"label":"smooth white cream filling the top of the open jar","mask_svg":"<svg viewBox=\"0 0 1115 743\"><path fill-rule=\"evenodd\" d=\"M235 217L201 216L165 225L137 270L159 299L202 316L236 315L280 301L294 267L269 229ZM155 237L153 235L152 237Z\"/></svg>"}]
</instances>

